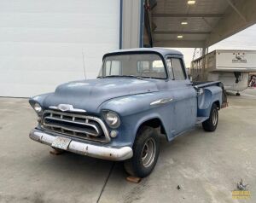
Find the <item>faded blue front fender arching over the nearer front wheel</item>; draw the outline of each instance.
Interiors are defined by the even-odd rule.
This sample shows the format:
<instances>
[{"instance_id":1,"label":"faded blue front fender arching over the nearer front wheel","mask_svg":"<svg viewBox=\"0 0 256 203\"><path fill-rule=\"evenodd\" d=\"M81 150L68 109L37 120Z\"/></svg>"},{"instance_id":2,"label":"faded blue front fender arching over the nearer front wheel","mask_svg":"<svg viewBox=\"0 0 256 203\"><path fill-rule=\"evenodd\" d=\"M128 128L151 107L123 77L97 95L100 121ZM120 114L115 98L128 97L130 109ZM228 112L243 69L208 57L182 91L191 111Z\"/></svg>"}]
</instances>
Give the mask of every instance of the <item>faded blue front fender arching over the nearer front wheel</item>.
<instances>
[{"instance_id":1,"label":"faded blue front fender arching over the nearer front wheel","mask_svg":"<svg viewBox=\"0 0 256 203\"><path fill-rule=\"evenodd\" d=\"M149 119L159 119L166 133L168 133L170 118L168 118L166 114L166 106L170 104L159 106L150 105L150 103L166 98L166 96L167 94L165 94L165 92L151 92L147 94L123 96L104 102L101 106L101 110L114 111L119 114L121 119L121 125L117 129L119 136L113 139L112 145L132 147L139 127Z\"/></svg>"}]
</instances>

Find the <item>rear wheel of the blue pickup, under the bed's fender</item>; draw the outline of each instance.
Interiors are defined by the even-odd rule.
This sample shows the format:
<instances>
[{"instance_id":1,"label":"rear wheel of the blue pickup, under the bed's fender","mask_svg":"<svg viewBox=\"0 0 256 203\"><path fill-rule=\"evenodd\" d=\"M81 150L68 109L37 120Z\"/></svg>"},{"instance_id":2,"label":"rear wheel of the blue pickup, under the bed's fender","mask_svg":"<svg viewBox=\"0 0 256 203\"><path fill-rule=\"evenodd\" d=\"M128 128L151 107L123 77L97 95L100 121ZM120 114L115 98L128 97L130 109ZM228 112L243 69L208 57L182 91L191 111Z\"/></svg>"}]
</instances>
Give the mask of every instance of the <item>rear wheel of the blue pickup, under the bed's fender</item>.
<instances>
[{"instance_id":1,"label":"rear wheel of the blue pickup, under the bed's fender","mask_svg":"<svg viewBox=\"0 0 256 203\"><path fill-rule=\"evenodd\" d=\"M215 103L212 104L210 117L202 123L205 131L215 131L218 125L218 107Z\"/></svg>"}]
</instances>

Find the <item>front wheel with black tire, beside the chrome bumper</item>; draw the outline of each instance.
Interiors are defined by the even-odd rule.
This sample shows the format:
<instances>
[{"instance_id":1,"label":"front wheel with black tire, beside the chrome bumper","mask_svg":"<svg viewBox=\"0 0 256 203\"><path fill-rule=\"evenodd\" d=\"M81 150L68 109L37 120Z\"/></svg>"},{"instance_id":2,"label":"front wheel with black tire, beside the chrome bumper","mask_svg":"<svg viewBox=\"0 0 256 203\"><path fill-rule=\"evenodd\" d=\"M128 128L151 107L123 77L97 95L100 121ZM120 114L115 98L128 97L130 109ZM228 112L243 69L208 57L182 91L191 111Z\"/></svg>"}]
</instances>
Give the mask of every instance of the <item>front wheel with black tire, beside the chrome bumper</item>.
<instances>
[{"instance_id":1,"label":"front wheel with black tire, beside the chrome bumper","mask_svg":"<svg viewBox=\"0 0 256 203\"><path fill-rule=\"evenodd\" d=\"M133 143L133 157L125 160L125 171L134 177L147 177L156 165L160 143L157 131L143 126Z\"/></svg>"}]
</instances>

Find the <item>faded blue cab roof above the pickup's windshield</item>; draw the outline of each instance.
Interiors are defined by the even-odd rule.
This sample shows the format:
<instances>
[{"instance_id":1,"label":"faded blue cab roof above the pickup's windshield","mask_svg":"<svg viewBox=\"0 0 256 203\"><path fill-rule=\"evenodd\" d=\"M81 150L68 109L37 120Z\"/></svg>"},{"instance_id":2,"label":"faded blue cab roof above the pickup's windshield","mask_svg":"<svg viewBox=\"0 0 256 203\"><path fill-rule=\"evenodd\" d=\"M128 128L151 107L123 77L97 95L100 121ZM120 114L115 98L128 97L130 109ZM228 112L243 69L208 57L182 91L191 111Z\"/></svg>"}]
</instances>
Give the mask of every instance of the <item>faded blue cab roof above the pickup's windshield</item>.
<instances>
[{"instance_id":1,"label":"faded blue cab roof above the pickup's windshield","mask_svg":"<svg viewBox=\"0 0 256 203\"><path fill-rule=\"evenodd\" d=\"M105 58L108 55L116 55L116 54L129 54L129 53L139 53L139 52L153 52L162 56L166 55L183 55L180 51L175 49L165 49L165 48L137 48L137 49L119 49L112 52L109 52L103 55Z\"/></svg>"}]
</instances>

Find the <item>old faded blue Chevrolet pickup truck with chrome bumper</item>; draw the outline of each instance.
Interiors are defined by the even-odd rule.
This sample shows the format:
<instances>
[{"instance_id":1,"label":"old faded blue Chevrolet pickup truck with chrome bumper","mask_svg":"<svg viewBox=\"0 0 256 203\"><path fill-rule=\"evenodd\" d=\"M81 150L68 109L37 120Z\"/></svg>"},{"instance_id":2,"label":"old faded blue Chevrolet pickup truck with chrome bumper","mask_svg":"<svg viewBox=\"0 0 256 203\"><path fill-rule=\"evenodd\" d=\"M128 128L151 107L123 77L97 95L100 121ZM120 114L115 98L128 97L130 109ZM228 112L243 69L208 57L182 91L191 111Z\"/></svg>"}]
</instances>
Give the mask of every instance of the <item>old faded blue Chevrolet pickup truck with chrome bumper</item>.
<instances>
[{"instance_id":1,"label":"old faded blue Chevrolet pickup truck with chrome bumper","mask_svg":"<svg viewBox=\"0 0 256 203\"><path fill-rule=\"evenodd\" d=\"M223 88L191 83L176 50L122 49L103 56L96 79L61 84L29 102L38 114L32 140L124 161L129 174L146 177L160 153L160 134L171 142L198 124L215 131Z\"/></svg>"}]
</instances>

